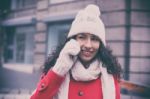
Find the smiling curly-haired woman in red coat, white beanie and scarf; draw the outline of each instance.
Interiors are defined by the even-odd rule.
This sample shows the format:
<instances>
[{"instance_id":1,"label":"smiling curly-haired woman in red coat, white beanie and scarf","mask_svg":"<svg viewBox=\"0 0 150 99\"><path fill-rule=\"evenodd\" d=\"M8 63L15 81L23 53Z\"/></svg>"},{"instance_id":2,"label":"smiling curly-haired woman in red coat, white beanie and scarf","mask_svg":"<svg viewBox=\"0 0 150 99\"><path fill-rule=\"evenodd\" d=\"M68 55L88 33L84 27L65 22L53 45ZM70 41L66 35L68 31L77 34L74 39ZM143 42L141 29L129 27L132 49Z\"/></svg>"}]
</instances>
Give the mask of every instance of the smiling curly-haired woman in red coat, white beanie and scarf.
<instances>
[{"instance_id":1,"label":"smiling curly-haired woman in red coat, white beanie and scarf","mask_svg":"<svg viewBox=\"0 0 150 99\"><path fill-rule=\"evenodd\" d=\"M63 48L45 62L31 99L120 99L121 68L106 48L99 16L96 5L78 12Z\"/></svg>"}]
</instances>

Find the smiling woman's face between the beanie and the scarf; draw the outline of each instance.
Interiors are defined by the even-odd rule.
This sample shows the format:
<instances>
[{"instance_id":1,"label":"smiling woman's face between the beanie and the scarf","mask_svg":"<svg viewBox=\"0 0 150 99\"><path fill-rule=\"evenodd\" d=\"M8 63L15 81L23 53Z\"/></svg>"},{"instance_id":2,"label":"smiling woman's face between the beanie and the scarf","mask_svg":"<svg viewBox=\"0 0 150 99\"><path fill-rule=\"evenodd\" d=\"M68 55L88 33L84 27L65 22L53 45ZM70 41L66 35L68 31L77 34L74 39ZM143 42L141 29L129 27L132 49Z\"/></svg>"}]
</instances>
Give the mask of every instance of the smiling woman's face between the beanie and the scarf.
<instances>
[{"instance_id":1,"label":"smiling woman's face between the beanie and the scarf","mask_svg":"<svg viewBox=\"0 0 150 99\"><path fill-rule=\"evenodd\" d=\"M81 46L79 58L82 62L90 62L97 54L100 47L100 40L97 36L89 33L81 33L76 36Z\"/></svg>"}]
</instances>

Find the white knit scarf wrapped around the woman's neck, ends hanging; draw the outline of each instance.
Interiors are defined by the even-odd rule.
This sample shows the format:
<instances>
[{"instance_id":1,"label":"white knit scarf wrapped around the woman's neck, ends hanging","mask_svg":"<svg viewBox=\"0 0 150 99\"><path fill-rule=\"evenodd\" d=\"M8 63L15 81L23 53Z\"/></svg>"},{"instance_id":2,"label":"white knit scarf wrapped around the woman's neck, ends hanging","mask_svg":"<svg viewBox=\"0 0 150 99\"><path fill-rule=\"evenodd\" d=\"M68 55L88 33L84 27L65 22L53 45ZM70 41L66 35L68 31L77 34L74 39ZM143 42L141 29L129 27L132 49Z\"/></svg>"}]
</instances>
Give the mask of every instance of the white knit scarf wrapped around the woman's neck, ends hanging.
<instances>
[{"instance_id":1,"label":"white knit scarf wrapped around the woman's neck, ends hanging","mask_svg":"<svg viewBox=\"0 0 150 99\"><path fill-rule=\"evenodd\" d=\"M116 93L113 76L108 74L107 69L102 67L102 64L98 61L92 62L87 69L84 68L80 61L77 61L71 69L71 73L72 77L77 81L94 80L97 79L101 73L100 79L102 82L103 99L115 99ZM68 99L69 82L70 74L68 73L57 95L53 99Z\"/></svg>"}]
</instances>

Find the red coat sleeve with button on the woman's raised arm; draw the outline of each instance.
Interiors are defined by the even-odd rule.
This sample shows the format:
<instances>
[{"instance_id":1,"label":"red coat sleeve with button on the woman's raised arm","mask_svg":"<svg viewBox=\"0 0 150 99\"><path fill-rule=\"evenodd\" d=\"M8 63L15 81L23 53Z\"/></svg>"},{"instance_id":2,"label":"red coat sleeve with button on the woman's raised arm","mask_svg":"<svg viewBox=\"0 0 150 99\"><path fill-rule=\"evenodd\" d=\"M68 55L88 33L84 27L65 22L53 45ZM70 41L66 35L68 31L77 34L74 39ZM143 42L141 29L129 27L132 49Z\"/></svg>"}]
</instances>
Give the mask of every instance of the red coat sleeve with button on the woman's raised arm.
<instances>
[{"instance_id":1,"label":"red coat sleeve with button on the woman's raised arm","mask_svg":"<svg viewBox=\"0 0 150 99\"><path fill-rule=\"evenodd\" d=\"M57 93L64 77L50 70L38 83L30 99L52 99Z\"/></svg>"}]
</instances>

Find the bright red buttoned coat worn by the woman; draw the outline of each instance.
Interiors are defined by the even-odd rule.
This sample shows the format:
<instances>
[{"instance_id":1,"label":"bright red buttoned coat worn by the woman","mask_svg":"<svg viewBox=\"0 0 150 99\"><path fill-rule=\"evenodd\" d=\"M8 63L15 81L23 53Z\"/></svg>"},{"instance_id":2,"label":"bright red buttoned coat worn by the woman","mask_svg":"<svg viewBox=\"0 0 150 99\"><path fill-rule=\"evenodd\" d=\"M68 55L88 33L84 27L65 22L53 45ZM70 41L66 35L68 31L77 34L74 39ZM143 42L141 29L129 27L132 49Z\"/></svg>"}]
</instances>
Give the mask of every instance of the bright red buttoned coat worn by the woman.
<instances>
[{"instance_id":1,"label":"bright red buttoned coat worn by the woman","mask_svg":"<svg viewBox=\"0 0 150 99\"><path fill-rule=\"evenodd\" d=\"M41 79L30 99L53 99L63 80L64 77L57 75L53 71L49 71ZM120 87L117 79L115 79L115 88L116 99L120 99ZM68 97L69 99L103 99L100 79L88 82L79 82L71 79Z\"/></svg>"}]
</instances>

